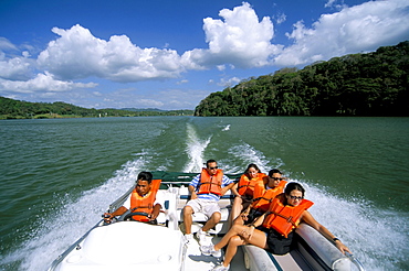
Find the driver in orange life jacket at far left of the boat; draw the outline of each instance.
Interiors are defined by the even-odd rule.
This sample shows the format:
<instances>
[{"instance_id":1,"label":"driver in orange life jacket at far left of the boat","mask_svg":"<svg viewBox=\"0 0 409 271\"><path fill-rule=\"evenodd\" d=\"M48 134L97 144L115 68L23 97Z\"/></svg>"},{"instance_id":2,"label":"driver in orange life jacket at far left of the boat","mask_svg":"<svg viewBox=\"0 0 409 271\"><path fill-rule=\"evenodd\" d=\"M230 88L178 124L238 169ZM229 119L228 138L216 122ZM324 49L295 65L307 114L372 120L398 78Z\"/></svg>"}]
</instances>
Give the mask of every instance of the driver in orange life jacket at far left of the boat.
<instances>
[{"instance_id":1,"label":"driver in orange life jacket at far left of the boat","mask_svg":"<svg viewBox=\"0 0 409 271\"><path fill-rule=\"evenodd\" d=\"M155 182L155 184L154 184ZM120 216L128 210L129 206L132 213L146 213L144 215L132 216L133 220L146 221L149 224L157 224L156 218L164 206L164 199L157 194L160 185L160 180L154 180L150 172L140 172L134 191L130 193L124 206L120 206L114 213L105 213L104 219L107 224L112 221L115 216Z\"/></svg>"}]
</instances>

